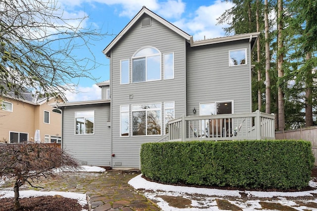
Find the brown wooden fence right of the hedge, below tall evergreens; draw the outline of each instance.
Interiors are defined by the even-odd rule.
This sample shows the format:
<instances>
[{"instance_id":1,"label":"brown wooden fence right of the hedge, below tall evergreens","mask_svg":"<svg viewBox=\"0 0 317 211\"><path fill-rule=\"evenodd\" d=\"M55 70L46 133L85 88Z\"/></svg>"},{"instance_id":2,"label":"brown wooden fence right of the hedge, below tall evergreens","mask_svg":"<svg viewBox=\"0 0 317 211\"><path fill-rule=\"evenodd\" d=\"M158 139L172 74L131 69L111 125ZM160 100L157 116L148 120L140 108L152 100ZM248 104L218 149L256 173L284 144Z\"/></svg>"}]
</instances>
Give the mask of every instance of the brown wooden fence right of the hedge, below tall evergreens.
<instances>
[{"instance_id":1,"label":"brown wooden fence right of the hedge, below tall evergreens","mask_svg":"<svg viewBox=\"0 0 317 211\"><path fill-rule=\"evenodd\" d=\"M312 150L315 156L314 165L317 166L317 126L286 131L276 131L275 138L310 141L312 143Z\"/></svg>"}]
</instances>

